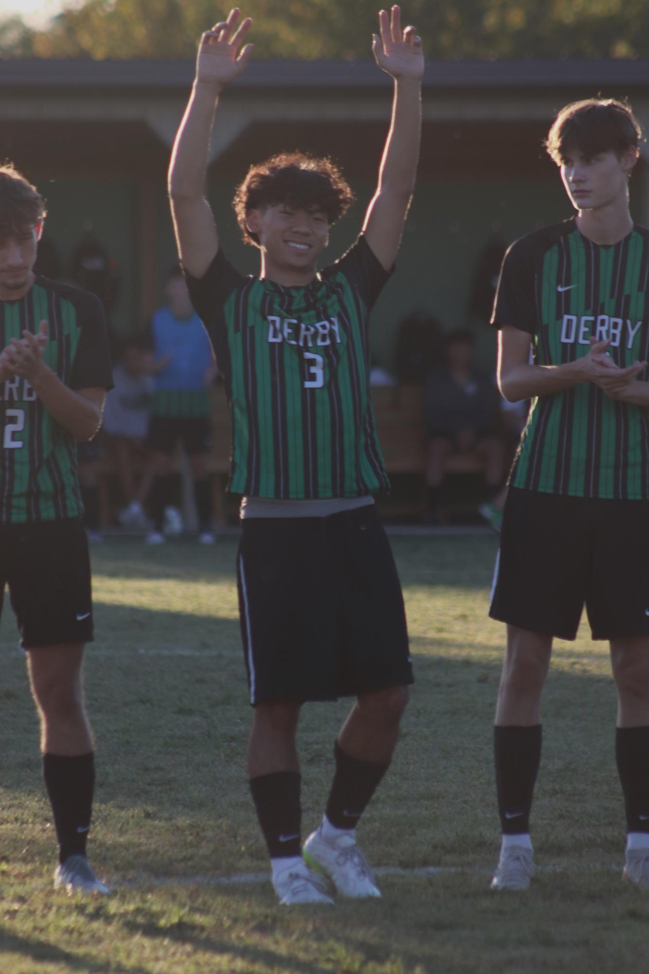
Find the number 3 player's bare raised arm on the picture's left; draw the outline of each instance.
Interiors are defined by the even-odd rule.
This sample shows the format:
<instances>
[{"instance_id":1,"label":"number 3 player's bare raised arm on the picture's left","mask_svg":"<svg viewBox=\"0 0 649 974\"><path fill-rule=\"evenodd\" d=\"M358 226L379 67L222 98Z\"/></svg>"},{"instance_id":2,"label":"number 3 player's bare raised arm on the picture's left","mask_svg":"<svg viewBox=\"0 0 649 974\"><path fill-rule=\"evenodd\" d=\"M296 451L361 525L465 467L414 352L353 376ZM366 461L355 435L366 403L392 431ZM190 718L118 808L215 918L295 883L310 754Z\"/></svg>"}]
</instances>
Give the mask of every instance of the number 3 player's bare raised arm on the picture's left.
<instances>
[{"instance_id":1,"label":"number 3 player's bare raised arm on the picture's left","mask_svg":"<svg viewBox=\"0 0 649 974\"><path fill-rule=\"evenodd\" d=\"M169 202L180 259L201 278L219 249L212 210L205 199L207 153L219 95L245 68L252 44L239 50L252 20L238 25L239 11L205 31L198 46L196 78L180 123L169 166Z\"/></svg>"}]
</instances>

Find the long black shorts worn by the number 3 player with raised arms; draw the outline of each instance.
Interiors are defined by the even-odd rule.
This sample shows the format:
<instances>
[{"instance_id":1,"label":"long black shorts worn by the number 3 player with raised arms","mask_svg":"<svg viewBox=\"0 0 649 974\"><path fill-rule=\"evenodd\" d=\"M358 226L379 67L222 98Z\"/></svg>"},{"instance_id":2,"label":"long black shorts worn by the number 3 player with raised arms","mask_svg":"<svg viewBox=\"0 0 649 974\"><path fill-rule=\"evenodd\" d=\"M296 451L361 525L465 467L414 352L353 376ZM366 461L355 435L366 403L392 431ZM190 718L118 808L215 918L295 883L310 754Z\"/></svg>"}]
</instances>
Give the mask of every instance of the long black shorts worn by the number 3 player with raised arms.
<instances>
[{"instance_id":1,"label":"long black shorts worn by the number 3 player with raised arms","mask_svg":"<svg viewBox=\"0 0 649 974\"><path fill-rule=\"evenodd\" d=\"M237 581L250 702L414 682L401 585L374 506L242 522Z\"/></svg>"}]
</instances>

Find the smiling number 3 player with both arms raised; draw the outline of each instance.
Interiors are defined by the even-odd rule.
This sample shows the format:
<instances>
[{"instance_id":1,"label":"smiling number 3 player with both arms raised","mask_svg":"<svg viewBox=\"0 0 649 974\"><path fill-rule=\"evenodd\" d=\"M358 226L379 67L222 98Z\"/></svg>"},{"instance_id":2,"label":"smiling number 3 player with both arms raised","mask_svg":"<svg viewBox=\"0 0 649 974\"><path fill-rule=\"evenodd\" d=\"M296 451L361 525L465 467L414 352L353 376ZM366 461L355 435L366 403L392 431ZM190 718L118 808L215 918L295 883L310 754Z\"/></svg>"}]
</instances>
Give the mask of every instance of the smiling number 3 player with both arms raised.
<instances>
[{"instance_id":1,"label":"smiling number 3 player with both arms raised","mask_svg":"<svg viewBox=\"0 0 649 974\"><path fill-rule=\"evenodd\" d=\"M373 50L394 78L379 186L356 243L317 270L351 194L329 161L253 166L234 208L259 277L228 261L204 193L214 107L243 71L250 19L203 34L173 151L171 208L198 315L226 380L230 490L243 495L237 559L255 708L247 770L281 903L379 896L356 825L388 768L413 682L403 598L372 494L387 485L368 382L368 318L396 257L415 184L423 56L400 10L379 13ZM296 731L307 700L353 695L335 743L326 813L301 849Z\"/></svg>"}]
</instances>

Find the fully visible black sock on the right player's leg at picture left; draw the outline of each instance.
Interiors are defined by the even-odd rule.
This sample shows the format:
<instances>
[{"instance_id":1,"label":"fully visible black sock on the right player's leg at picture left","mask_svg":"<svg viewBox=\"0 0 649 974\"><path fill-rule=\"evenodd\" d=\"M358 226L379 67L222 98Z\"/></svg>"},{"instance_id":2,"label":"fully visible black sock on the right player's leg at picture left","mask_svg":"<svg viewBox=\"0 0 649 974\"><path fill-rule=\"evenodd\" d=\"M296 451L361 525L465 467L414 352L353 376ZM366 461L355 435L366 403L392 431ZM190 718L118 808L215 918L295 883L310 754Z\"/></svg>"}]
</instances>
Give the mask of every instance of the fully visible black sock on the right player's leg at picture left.
<instances>
[{"instance_id":1,"label":"fully visible black sock on the right player's leg at picture left","mask_svg":"<svg viewBox=\"0 0 649 974\"><path fill-rule=\"evenodd\" d=\"M495 727L493 759L498 812L504 836L529 832L529 812L541 763L541 725Z\"/></svg>"}]
</instances>

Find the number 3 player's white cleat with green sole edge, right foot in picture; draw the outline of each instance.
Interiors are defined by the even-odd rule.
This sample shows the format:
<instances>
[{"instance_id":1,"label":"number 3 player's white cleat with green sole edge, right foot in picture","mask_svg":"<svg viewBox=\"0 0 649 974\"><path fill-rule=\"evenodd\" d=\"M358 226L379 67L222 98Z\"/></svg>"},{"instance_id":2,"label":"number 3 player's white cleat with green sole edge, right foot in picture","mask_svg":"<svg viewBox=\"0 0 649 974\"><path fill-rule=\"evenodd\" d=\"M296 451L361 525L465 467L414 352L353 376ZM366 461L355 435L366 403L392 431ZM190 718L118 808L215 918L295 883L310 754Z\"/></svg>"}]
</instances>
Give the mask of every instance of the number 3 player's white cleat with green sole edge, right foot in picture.
<instances>
[{"instance_id":1,"label":"number 3 player's white cleat with green sole edge, right foot in picture","mask_svg":"<svg viewBox=\"0 0 649 974\"><path fill-rule=\"evenodd\" d=\"M370 864L353 836L343 835L330 841L322 829L312 832L302 850L305 862L328 876L341 896L352 899L380 896Z\"/></svg>"}]
</instances>

